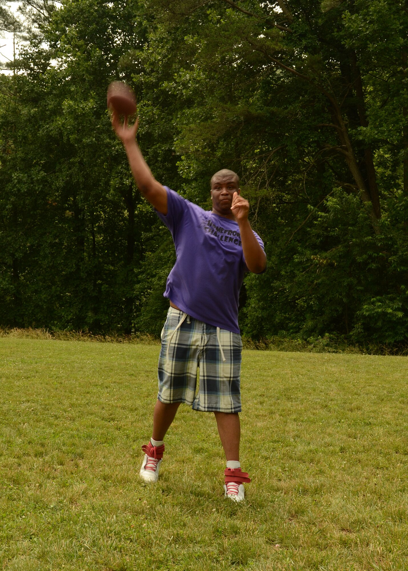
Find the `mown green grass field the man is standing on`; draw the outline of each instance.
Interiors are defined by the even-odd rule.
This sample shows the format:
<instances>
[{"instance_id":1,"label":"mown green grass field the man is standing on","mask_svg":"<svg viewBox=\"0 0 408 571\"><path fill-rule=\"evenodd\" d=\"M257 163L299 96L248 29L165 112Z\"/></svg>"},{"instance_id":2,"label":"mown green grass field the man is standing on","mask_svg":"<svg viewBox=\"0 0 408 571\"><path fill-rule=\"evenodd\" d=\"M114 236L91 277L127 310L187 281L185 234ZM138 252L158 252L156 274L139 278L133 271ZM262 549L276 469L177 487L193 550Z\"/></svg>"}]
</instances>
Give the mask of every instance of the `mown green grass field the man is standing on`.
<instances>
[{"instance_id":1,"label":"mown green grass field the man is standing on","mask_svg":"<svg viewBox=\"0 0 408 571\"><path fill-rule=\"evenodd\" d=\"M408 569L406 357L244 351L242 505L185 406L139 480L157 356L0 339L0 569Z\"/></svg>"}]
</instances>

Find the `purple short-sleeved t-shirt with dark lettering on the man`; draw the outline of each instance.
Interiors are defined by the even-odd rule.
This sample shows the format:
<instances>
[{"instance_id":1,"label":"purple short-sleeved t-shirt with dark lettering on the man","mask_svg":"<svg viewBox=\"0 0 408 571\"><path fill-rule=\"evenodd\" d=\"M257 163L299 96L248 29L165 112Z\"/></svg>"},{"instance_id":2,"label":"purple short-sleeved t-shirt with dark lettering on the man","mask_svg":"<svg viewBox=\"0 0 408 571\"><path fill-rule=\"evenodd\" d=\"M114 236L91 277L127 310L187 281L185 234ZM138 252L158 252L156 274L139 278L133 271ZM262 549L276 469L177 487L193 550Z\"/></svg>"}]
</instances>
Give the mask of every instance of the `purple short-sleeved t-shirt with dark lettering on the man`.
<instances>
[{"instance_id":1,"label":"purple short-sleeved t-shirt with dark lettering on the man","mask_svg":"<svg viewBox=\"0 0 408 571\"><path fill-rule=\"evenodd\" d=\"M248 268L238 223L165 188L167 215L156 212L173 236L177 259L163 295L194 319L239 333L239 289Z\"/></svg>"}]
</instances>

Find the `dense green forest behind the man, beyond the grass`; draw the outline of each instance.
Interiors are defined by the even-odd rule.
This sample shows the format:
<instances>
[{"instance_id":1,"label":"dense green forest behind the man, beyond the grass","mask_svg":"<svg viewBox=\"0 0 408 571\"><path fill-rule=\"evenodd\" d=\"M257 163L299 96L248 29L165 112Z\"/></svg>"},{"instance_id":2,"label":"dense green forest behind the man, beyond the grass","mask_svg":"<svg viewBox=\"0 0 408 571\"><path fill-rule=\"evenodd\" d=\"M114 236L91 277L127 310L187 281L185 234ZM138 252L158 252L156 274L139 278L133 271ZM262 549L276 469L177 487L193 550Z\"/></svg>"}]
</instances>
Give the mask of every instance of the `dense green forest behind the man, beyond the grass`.
<instances>
[{"instance_id":1,"label":"dense green forest behind the man, beyond the grass","mask_svg":"<svg viewBox=\"0 0 408 571\"><path fill-rule=\"evenodd\" d=\"M242 332L408 341L408 2L0 2L0 325L160 331L169 232L134 186L106 89L138 99L155 178L210 207L241 178L267 271ZM222 292L219 295L228 295Z\"/></svg>"}]
</instances>

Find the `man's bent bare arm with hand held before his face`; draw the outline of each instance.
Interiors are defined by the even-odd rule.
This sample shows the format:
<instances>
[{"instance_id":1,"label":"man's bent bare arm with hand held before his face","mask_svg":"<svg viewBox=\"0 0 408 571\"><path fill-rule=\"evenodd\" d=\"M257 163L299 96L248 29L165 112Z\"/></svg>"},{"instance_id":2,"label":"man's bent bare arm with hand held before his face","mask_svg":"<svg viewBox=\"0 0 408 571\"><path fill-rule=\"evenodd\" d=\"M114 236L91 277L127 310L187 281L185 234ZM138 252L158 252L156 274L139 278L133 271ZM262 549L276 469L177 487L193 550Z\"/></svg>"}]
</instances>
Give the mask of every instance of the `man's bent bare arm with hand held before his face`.
<instances>
[{"instance_id":1,"label":"man's bent bare arm with hand held before his face","mask_svg":"<svg viewBox=\"0 0 408 571\"><path fill-rule=\"evenodd\" d=\"M249 202L234 192L231 210L238 222L241 234L242 251L245 263L250 272L261 274L266 268L266 255L261 248L248 220Z\"/></svg>"}]
</instances>

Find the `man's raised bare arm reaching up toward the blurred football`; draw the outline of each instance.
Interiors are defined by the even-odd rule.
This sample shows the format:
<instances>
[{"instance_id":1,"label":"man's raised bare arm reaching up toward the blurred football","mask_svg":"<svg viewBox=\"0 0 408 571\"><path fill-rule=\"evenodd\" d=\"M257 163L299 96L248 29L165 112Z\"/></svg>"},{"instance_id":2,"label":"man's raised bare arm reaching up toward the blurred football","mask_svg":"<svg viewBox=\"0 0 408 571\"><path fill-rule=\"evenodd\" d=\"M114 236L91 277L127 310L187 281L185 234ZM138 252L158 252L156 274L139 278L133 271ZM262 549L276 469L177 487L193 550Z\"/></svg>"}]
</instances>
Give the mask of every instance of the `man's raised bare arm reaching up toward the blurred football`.
<instances>
[{"instance_id":1,"label":"man's raised bare arm reaching up toward the blurred football","mask_svg":"<svg viewBox=\"0 0 408 571\"><path fill-rule=\"evenodd\" d=\"M139 125L139 118L135 123L129 127L127 118L123 125L119 121L119 115L114 111L112 115L112 127L118 138L121 139L127 159L129 160L130 168L137 184L139 191L142 195L153 204L154 208L167 215L167 192L166 189L154 178L151 174L149 166L136 141L136 134Z\"/></svg>"}]
</instances>

